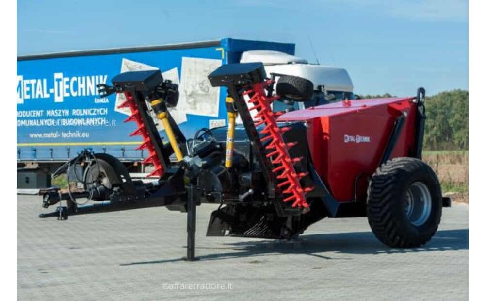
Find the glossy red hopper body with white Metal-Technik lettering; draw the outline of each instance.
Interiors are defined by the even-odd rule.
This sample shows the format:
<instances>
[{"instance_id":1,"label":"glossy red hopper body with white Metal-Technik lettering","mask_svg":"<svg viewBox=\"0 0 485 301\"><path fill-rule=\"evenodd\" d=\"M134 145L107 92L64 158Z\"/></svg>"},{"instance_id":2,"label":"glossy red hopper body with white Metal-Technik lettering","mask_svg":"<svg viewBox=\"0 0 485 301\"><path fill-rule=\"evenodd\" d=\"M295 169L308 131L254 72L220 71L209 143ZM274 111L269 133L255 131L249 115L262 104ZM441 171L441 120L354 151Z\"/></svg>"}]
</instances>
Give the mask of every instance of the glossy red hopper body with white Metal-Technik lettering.
<instances>
[{"instance_id":1,"label":"glossy red hopper body with white Metal-Technik lettering","mask_svg":"<svg viewBox=\"0 0 485 301\"><path fill-rule=\"evenodd\" d=\"M382 158L396 117L406 115L392 157L407 156L414 148L416 104L412 98L351 100L290 112L278 121L307 121L308 141L315 169L338 201L366 191Z\"/></svg>"}]
</instances>

